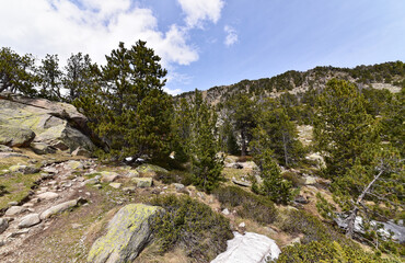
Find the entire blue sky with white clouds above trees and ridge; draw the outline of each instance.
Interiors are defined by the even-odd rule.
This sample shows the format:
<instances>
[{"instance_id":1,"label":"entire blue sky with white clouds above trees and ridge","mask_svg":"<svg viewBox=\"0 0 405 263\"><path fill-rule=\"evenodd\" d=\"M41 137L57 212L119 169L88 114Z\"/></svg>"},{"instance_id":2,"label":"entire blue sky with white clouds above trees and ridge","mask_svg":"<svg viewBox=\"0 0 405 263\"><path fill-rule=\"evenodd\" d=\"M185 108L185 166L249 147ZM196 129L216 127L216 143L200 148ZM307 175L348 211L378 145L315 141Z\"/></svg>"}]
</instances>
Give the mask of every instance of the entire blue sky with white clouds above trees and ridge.
<instances>
[{"instance_id":1,"label":"entire blue sky with white clouds above trees and ridge","mask_svg":"<svg viewBox=\"0 0 405 263\"><path fill-rule=\"evenodd\" d=\"M171 93L316 66L405 60L404 0L0 1L0 45L38 59L89 53L104 62L141 38Z\"/></svg>"}]
</instances>

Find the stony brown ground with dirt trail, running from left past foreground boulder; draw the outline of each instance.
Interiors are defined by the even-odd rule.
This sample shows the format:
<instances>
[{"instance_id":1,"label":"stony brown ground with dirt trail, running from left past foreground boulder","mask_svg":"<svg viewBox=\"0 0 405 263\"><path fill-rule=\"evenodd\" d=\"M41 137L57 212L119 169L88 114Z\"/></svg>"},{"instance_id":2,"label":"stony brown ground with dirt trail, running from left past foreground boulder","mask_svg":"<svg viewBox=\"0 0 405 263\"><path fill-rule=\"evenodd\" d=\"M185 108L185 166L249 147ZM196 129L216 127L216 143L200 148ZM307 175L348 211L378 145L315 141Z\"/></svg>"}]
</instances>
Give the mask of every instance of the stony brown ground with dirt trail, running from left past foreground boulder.
<instances>
[{"instance_id":1,"label":"stony brown ground with dirt trail, running from left past foreground boulder","mask_svg":"<svg viewBox=\"0 0 405 263\"><path fill-rule=\"evenodd\" d=\"M282 233L276 227L243 219L194 186L159 182L154 179L155 171L165 170L158 167L108 167L94 159L59 151L38 156L31 150L12 150L1 155L0 184L10 176L36 179L31 185L5 192L0 197L3 204L0 207L1 262L85 262L91 245L119 208L161 194L187 194L222 213L231 220L233 230L265 235L280 247L299 238ZM229 157L224 170L227 184L248 190L248 176L254 170L253 162L238 162L236 158ZM316 180L306 183L313 184ZM303 204L314 209L311 203L315 193L308 187ZM312 187L313 192L317 190ZM26 194L21 196L19 192Z\"/></svg>"}]
</instances>

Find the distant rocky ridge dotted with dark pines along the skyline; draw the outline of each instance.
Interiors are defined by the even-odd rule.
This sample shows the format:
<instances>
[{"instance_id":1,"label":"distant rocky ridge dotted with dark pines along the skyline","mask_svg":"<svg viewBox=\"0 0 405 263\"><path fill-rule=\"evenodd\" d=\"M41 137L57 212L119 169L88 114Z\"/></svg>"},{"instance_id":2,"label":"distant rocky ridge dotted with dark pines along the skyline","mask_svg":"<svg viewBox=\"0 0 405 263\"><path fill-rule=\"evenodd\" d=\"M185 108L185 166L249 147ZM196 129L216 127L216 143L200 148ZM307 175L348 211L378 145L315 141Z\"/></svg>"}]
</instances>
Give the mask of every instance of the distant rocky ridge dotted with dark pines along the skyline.
<instances>
[{"instance_id":1,"label":"distant rocky ridge dotted with dark pines along the skyline","mask_svg":"<svg viewBox=\"0 0 405 263\"><path fill-rule=\"evenodd\" d=\"M231 85L213 87L202 94L210 104L223 103L235 93L250 92L261 98L277 98L282 93L302 95L309 90L322 90L333 78L349 80L360 88L387 89L400 92L405 87L405 72L402 61L385 62L356 68L316 67L308 71L290 70L273 78L242 80ZM177 98L193 96L185 92Z\"/></svg>"}]
</instances>

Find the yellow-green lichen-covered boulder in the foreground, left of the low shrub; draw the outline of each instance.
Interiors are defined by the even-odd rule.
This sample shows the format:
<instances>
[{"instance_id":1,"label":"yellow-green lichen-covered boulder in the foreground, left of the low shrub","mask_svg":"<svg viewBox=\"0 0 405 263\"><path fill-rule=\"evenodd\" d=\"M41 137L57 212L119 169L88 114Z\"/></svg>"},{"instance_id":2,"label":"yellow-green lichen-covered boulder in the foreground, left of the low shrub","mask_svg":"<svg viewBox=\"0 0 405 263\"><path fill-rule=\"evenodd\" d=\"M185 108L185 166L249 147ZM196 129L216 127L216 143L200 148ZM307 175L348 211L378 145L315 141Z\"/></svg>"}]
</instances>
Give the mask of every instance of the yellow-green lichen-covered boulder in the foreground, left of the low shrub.
<instances>
[{"instance_id":1,"label":"yellow-green lichen-covered boulder in the foreground, left of the low shrub","mask_svg":"<svg viewBox=\"0 0 405 263\"><path fill-rule=\"evenodd\" d=\"M119 209L109 221L107 233L93 243L88 262L132 262L151 239L152 219L162 211L161 207L143 204Z\"/></svg>"}]
</instances>

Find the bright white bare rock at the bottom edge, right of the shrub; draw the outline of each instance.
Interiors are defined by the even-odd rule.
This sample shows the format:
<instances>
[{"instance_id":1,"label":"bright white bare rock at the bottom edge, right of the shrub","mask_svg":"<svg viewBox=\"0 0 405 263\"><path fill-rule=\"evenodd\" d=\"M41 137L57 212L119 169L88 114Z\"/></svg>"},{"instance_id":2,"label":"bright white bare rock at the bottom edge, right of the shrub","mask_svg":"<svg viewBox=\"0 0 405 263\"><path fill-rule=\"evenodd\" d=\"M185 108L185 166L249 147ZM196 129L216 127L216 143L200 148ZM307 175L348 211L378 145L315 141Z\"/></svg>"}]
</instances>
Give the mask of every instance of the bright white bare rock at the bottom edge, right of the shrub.
<instances>
[{"instance_id":1,"label":"bright white bare rock at the bottom edge, right of the shrub","mask_svg":"<svg viewBox=\"0 0 405 263\"><path fill-rule=\"evenodd\" d=\"M228 241L227 251L219 254L211 263L264 263L275 260L281 253L276 242L266 236L234 232Z\"/></svg>"}]
</instances>

